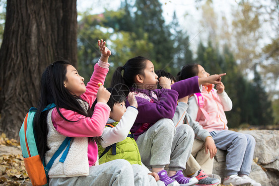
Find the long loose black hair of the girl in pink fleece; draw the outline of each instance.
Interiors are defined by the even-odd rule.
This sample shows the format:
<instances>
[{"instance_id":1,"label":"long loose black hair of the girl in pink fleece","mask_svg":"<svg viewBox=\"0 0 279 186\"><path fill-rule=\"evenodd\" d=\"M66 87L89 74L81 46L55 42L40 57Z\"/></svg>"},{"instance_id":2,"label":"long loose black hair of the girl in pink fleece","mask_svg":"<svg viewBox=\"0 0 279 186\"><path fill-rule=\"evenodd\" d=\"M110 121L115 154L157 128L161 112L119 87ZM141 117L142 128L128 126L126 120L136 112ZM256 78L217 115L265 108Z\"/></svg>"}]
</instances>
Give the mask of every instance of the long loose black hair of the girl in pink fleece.
<instances>
[{"instance_id":1,"label":"long loose black hair of the girl in pink fleece","mask_svg":"<svg viewBox=\"0 0 279 186\"><path fill-rule=\"evenodd\" d=\"M65 118L59 108L66 108L87 117L91 117L93 114L92 110L85 110L80 105L80 101L84 100L79 96L70 93L64 87L64 81L67 80L66 73L68 65L70 65L70 62L66 60L55 61L46 68L41 78L40 99L37 105L38 110L33 121L34 130L37 135L37 148L41 160L44 159L45 153L49 150L47 147L47 115L49 110L42 112L47 105L55 103L59 115L68 122L78 121L78 118L74 121ZM98 140L94 138L93 140Z\"/></svg>"}]
</instances>

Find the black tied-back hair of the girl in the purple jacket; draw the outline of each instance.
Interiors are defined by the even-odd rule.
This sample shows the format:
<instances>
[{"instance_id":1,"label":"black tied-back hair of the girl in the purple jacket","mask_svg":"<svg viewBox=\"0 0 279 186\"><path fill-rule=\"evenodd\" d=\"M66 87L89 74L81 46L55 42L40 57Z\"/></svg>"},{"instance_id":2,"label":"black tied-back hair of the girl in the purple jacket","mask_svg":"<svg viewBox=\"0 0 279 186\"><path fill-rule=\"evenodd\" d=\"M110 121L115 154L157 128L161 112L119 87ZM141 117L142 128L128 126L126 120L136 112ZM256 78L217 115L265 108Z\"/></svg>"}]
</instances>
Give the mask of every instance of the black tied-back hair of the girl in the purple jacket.
<instances>
[{"instance_id":1,"label":"black tied-back hair of the girl in the purple jacket","mask_svg":"<svg viewBox=\"0 0 279 186\"><path fill-rule=\"evenodd\" d=\"M129 59L123 67L118 67L113 73L111 87L118 84L125 84L127 87L131 88L134 85L135 78L138 74L144 76L147 60L147 58L138 56ZM123 70L124 73L122 76Z\"/></svg>"}]
</instances>

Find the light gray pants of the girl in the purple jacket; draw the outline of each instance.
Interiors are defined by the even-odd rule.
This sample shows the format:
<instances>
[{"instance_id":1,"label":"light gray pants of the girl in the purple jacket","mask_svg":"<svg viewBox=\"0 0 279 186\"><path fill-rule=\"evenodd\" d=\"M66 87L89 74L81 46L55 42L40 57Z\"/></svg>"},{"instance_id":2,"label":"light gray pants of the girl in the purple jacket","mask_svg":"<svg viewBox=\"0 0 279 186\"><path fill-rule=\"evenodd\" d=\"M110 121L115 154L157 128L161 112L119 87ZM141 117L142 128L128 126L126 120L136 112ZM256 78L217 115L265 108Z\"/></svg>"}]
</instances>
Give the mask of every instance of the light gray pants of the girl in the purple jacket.
<instances>
[{"instance_id":1,"label":"light gray pants of the girl in the purple jacket","mask_svg":"<svg viewBox=\"0 0 279 186\"><path fill-rule=\"evenodd\" d=\"M190 126L182 125L176 132L171 119L160 119L137 139L141 161L152 168L169 164L171 171L184 170L194 136Z\"/></svg>"}]
</instances>

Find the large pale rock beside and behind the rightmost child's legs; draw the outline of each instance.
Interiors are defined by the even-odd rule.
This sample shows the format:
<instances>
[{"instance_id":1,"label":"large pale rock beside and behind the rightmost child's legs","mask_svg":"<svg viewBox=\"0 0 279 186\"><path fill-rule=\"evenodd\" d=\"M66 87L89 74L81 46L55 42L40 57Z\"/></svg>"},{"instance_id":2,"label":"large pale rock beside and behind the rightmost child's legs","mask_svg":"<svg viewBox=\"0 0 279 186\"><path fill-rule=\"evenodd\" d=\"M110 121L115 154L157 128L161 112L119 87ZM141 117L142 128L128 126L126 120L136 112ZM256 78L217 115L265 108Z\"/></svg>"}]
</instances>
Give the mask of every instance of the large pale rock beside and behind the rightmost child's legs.
<instances>
[{"instance_id":1,"label":"large pale rock beside and behind the rightmost child's legs","mask_svg":"<svg viewBox=\"0 0 279 186\"><path fill-rule=\"evenodd\" d=\"M250 134L256 140L254 161L250 177L262 186L279 186L279 131L247 130L239 131ZM213 174L222 179L225 169L226 151L218 150L213 166Z\"/></svg>"}]
</instances>

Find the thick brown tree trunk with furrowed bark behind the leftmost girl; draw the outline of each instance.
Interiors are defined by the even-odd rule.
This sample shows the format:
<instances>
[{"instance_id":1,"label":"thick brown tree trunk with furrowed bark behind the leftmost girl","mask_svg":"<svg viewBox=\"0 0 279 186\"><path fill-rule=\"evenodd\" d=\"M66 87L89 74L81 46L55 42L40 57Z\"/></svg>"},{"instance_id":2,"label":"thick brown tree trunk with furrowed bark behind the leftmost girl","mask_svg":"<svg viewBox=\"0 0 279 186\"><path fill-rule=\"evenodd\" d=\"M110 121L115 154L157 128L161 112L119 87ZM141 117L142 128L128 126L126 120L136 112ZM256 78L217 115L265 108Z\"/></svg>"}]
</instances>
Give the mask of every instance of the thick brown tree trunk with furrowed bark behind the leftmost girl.
<instances>
[{"instance_id":1,"label":"thick brown tree trunk with furrowed bark behind the leftmost girl","mask_svg":"<svg viewBox=\"0 0 279 186\"><path fill-rule=\"evenodd\" d=\"M77 61L76 0L7 0L0 48L0 132L18 139L36 107L41 75L57 59Z\"/></svg>"}]
</instances>

